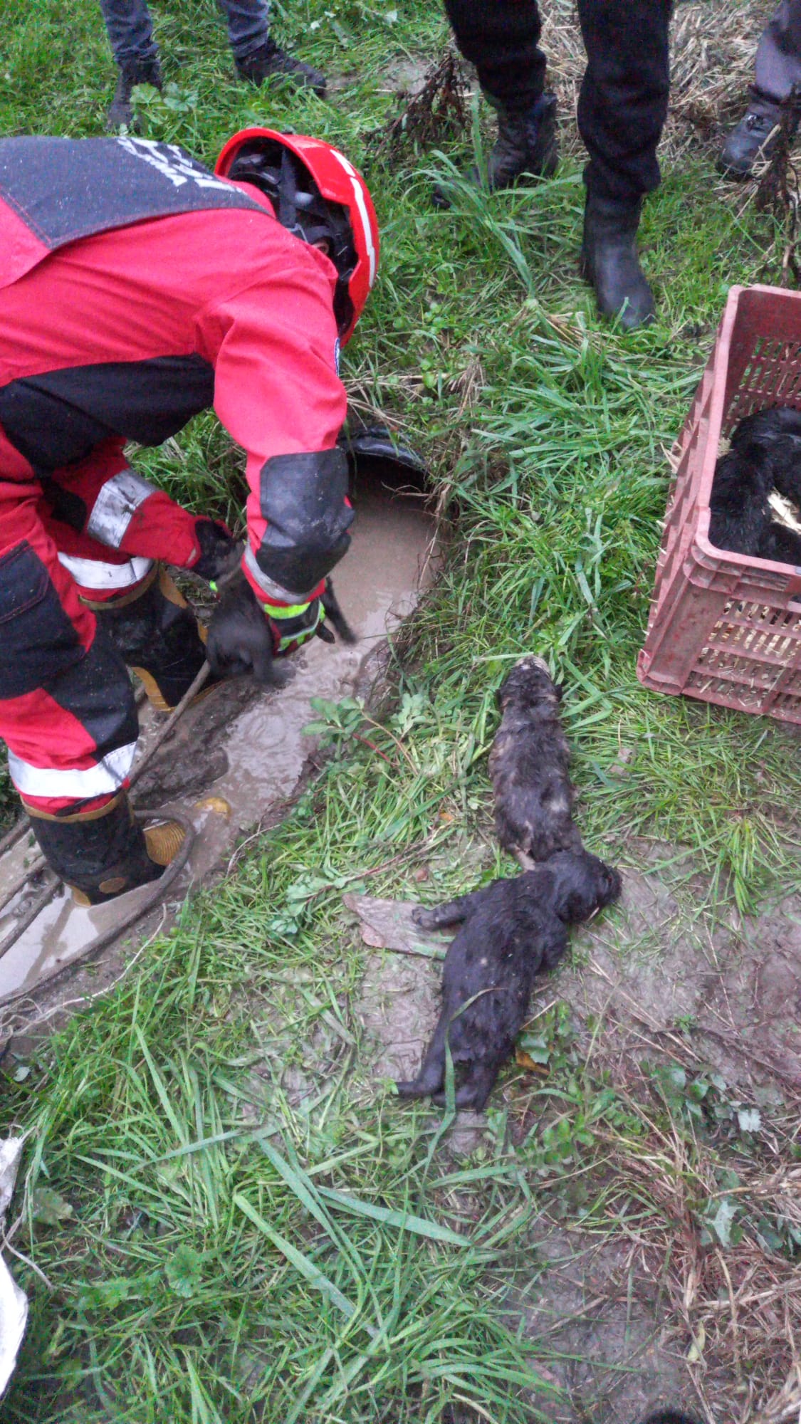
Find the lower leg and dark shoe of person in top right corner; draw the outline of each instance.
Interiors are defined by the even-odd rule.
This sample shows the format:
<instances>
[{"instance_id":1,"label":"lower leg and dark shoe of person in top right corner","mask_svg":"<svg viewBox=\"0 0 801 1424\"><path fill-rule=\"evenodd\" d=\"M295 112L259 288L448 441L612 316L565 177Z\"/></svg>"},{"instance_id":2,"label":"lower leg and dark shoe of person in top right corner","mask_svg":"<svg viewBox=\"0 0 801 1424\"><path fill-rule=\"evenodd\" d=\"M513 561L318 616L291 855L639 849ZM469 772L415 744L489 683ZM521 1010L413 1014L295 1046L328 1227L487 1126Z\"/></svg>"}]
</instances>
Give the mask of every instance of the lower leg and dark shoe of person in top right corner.
<instances>
[{"instance_id":1,"label":"lower leg and dark shoe of person in top right corner","mask_svg":"<svg viewBox=\"0 0 801 1424\"><path fill-rule=\"evenodd\" d=\"M801 90L801 0L782 0L757 47L748 108L718 158L727 178L747 178L757 158L771 157L782 104L794 90ZM797 128L798 117L791 115L791 132Z\"/></svg>"}]
</instances>

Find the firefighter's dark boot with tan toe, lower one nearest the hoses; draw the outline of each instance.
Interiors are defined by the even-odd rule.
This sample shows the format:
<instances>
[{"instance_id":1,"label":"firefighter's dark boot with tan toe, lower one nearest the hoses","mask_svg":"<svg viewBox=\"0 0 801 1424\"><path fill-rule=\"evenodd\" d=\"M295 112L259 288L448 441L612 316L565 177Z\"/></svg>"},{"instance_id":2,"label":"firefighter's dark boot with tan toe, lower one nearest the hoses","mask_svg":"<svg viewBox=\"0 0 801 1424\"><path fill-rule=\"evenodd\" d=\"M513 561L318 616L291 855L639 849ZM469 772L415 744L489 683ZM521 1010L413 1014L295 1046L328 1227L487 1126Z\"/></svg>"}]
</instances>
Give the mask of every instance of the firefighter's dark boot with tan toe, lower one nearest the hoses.
<instances>
[{"instance_id":1,"label":"firefighter's dark boot with tan toe, lower one nearest the hoses","mask_svg":"<svg viewBox=\"0 0 801 1424\"><path fill-rule=\"evenodd\" d=\"M103 904L157 880L184 843L174 820L143 830L125 792L98 812L53 817L29 812L44 859L76 904Z\"/></svg>"}]
</instances>

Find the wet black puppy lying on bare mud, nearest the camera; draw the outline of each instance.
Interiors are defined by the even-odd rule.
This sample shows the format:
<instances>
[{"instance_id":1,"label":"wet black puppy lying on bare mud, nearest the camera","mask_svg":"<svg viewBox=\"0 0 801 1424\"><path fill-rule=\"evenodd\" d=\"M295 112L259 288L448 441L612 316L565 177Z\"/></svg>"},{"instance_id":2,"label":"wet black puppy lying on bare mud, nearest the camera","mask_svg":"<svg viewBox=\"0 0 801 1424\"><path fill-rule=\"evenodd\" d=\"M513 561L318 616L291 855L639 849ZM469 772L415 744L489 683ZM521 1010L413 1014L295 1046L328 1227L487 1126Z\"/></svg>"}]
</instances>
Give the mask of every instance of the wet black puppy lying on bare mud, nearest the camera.
<instances>
[{"instance_id":1,"label":"wet black puppy lying on bare mud, nearest the camera","mask_svg":"<svg viewBox=\"0 0 801 1424\"><path fill-rule=\"evenodd\" d=\"M425 930L459 921L462 928L445 956L442 1014L423 1065L413 1081L398 1084L399 1096L443 1101L448 1041L456 1106L480 1112L526 1021L536 975L562 958L572 924L619 894L617 870L586 850L563 850L515 880L418 910Z\"/></svg>"}]
</instances>

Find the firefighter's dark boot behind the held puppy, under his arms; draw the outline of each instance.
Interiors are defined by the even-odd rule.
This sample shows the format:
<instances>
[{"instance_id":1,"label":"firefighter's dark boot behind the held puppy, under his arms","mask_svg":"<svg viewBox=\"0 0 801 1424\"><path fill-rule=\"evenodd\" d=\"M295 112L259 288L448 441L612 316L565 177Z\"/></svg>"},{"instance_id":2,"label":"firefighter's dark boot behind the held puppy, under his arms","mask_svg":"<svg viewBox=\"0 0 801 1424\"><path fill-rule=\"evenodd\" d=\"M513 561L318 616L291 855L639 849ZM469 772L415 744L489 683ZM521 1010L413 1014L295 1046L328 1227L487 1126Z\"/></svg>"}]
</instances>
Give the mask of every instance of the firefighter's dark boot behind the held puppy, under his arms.
<instances>
[{"instance_id":1,"label":"firefighter's dark boot behind the held puppy, under his arms","mask_svg":"<svg viewBox=\"0 0 801 1424\"><path fill-rule=\"evenodd\" d=\"M167 571L157 565L131 594L88 607L144 684L151 706L157 712L177 708L205 662L205 628ZM211 691L214 681L210 678L198 696Z\"/></svg>"}]
</instances>

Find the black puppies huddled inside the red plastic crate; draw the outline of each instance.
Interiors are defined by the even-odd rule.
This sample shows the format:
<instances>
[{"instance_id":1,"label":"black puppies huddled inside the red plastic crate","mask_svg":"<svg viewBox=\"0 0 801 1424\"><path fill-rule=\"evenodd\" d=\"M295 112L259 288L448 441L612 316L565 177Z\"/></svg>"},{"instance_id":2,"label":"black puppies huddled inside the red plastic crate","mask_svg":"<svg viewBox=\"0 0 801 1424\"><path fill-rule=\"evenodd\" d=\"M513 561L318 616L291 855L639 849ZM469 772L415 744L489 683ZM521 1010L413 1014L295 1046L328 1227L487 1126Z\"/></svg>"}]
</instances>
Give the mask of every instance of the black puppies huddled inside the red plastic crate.
<instances>
[{"instance_id":1,"label":"black puppies huddled inside the red plastic crate","mask_svg":"<svg viewBox=\"0 0 801 1424\"><path fill-rule=\"evenodd\" d=\"M790 406L757 410L734 430L715 464L710 541L735 554L800 564L801 537L772 518L774 488L801 503L801 413Z\"/></svg>"}]
</instances>

